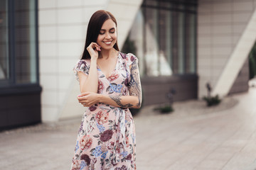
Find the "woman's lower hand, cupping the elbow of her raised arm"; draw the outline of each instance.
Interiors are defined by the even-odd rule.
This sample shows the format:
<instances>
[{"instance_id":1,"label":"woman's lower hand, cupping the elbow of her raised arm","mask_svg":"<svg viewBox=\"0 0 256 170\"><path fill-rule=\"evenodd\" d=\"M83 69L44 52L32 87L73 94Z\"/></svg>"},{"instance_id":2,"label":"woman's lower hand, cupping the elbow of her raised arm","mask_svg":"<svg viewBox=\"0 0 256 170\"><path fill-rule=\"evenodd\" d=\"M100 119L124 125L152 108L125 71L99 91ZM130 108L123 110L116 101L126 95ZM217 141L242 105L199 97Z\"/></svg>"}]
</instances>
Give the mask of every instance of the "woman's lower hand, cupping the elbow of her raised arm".
<instances>
[{"instance_id":1,"label":"woman's lower hand, cupping the elbow of her raised arm","mask_svg":"<svg viewBox=\"0 0 256 170\"><path fill-rule=\"evenodd\" d=\"M78 95L78 102L82 104L82 106L90 107L99 101L99 95L93 92L85 92Z\"/></svg>"}]
</instances>

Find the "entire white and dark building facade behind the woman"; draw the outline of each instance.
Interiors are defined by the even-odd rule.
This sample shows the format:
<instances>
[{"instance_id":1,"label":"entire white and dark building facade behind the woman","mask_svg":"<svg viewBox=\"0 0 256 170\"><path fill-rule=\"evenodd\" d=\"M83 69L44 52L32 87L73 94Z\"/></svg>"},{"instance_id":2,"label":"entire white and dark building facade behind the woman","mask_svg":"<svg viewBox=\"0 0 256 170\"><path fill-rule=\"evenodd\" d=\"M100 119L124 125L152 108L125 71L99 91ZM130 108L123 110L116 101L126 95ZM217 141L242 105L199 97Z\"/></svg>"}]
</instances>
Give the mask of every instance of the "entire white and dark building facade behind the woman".
<instances>
[{"instance_id":1,"label":"entire white and dark building facade behind the woman","mask_svg":"<svg viewBox=\"0 0 256 170\"><path fill-rule=\"evenodd\" d=\"M100 9L117 18L122 51L139 58L144 106L168 102L174 91L174 101L202 98L206 83L220 96L248 89L256 0L0 3L2 128L82 116L73 67Z\"/></svg>"}]
</instances>

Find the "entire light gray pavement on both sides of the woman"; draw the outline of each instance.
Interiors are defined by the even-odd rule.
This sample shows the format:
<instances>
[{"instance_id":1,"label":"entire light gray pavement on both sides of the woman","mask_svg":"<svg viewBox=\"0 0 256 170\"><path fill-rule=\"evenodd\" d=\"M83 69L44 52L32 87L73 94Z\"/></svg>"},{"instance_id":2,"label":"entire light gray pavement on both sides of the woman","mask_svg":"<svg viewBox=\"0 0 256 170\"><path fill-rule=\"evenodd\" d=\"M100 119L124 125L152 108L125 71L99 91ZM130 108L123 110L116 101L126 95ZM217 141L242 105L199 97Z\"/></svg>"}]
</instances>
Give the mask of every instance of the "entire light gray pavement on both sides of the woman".
<instances>
[{"instance_id":1,"label":"entire light gray pavement on both sides of the woman","mask_svg":"<svg viewBox=\"0 0 256 170\"><path fill-rule=\"evenodd\" d=\"M256 88L213 108L203 101L175 103L166 115L153 108L134 117L138 170L256 169ZM0 132L0 169L70 169L80 119Z\"/></svg>"}]
</instances>

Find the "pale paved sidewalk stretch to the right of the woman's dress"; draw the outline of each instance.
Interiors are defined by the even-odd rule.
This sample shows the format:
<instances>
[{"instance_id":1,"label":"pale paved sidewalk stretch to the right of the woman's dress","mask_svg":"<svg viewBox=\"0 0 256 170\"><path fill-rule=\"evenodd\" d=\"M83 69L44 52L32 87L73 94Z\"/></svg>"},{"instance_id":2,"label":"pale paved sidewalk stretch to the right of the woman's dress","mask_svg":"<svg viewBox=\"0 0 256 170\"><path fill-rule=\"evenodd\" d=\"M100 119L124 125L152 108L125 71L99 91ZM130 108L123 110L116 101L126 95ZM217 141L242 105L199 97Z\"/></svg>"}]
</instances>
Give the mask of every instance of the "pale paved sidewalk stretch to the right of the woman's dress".
<instances>
[{"instance_id":1,"label":"pale paved sidewalk stretch to the right of the woman's dress","mask_svg":"<svg viewBox=\"0 0 256 170\"><path fill-rule=\"evenodd\" d=\"M256 89L233 98L224 111L138 117L139 170L255 170Z\"/></svg>"}]
</instances>

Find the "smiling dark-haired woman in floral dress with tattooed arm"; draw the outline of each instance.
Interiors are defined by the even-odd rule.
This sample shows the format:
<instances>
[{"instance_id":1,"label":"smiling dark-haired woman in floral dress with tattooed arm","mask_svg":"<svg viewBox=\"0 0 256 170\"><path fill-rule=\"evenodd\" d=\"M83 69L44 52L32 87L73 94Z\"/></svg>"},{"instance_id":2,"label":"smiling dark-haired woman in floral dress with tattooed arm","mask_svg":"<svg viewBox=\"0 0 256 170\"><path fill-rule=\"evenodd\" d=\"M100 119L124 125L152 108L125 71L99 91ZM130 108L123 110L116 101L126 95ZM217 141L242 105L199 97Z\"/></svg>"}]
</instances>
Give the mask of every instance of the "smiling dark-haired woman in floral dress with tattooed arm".
<instances>
[{"instance_id":1,"label":"smiling dark-haired woman in floral dress with tattooed arm","mask_svg":"<svg viewBox=\"0 0 256 170\"><path fill-rule=\"evenodd\" d=\"M71 169L136 169L135 129L129 108L140 108L137 57L119 52L117 21L96 11L88 23L85 50L75 65L82 116Z\"/></svg>"}]
</instances>

